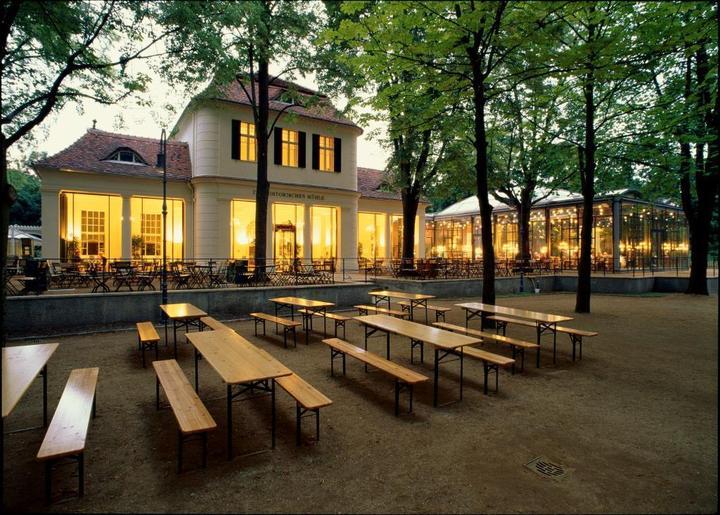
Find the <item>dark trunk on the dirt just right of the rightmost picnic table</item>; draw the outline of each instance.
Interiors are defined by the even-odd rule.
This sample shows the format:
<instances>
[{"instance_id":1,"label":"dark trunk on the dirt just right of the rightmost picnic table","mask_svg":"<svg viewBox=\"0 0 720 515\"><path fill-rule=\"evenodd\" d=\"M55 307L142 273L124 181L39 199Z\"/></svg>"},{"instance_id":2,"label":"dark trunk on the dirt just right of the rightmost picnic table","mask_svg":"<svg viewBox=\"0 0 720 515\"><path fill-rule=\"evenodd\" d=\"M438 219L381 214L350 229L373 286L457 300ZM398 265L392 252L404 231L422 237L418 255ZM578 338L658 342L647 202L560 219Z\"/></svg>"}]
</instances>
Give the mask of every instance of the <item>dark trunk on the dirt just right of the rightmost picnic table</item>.
<instances>
[{"instance_id":1,"label":"dark trunk on the dirt just right of the rightmost picnic table","mask_svg":"<svg viewBox=\"0 0 720 515\"><path fill-rule=\"evenodd\" d=\"M594 25L590 25L590 39ZM580 262L578 263L578 289L575 298L576 313L590 313L590 256L592 251L593 200L595 197L595 77L588 73L584 87L585 96L585 148L580 166L583 213L580 232Z\"/></svg>"}]
</instances>

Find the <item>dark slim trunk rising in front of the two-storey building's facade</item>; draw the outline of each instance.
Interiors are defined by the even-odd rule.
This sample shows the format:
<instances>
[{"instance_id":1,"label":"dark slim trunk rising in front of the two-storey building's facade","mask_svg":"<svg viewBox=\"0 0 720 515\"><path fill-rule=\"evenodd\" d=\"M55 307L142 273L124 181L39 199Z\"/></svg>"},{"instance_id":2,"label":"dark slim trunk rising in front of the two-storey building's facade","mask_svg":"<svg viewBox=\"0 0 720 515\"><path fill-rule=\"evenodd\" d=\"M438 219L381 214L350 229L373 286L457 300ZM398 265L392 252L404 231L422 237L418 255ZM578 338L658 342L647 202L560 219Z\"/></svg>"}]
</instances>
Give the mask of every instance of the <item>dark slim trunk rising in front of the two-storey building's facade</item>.
<instances>
[{"instance_id":1,"label":"dark slim trunk rising in front of the two-storey building's facade","mask_svg":"<svg viewBox=\"0 0 720 515\"><path fill-rule=\"evenodd\" d=\"M264 53L258 59L258 120L257 120L257 186L255 188L255 263L262 266L266 263L267 253L267 217L268 199L270 198L270 182L268 181L268 118L270 116L270 102L268 87L270 74L268 60ZM255 84L250 85L255 87Z\"/></svg>"}]
</instances>

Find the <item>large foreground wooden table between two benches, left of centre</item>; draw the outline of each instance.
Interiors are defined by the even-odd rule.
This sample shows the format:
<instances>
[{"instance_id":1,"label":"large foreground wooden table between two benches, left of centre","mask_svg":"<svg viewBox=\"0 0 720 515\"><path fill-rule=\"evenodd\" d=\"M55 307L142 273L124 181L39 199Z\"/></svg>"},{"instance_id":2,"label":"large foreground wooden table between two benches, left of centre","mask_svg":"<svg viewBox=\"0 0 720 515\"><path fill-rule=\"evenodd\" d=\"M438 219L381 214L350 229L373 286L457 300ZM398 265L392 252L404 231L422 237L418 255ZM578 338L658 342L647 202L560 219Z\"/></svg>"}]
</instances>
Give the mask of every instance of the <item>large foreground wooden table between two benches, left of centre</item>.
<instances>
[{"instance_id":1,"label":"large foreground wooden table between two benches, left of centre","mask_svg":"<svg viewBox=\"0 0 720 515\"><path fill-rule=\"evenodd\" d=\"M274 449L275 379L289 376L292 371L234 331L189 333L187 338L195 347L195 391L200 391L198 359L201 355L226 384L228 460L232 458L233 399L248 391L251 395L256 390L265 391L271 395L272 448Z\"/></svg>"}]
</instances>

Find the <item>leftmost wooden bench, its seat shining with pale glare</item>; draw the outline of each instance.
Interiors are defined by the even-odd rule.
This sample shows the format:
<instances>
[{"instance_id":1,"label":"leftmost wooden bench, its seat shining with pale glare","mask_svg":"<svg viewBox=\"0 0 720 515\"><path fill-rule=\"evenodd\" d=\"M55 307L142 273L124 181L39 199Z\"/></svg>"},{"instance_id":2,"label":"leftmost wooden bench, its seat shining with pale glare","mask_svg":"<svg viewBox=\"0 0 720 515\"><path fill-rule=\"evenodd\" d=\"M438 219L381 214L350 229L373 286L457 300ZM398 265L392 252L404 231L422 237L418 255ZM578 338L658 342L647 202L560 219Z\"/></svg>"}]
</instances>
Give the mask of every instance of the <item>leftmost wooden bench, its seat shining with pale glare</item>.
<instances>
[{"instance_id":1,"label":"leftmost wooden bench, its seat shining with pale glare","mask_svg":"<svg viewBox=\"0 0 720 515\"><path fill-rule=\"evenodd\" d=\"M78 494L85 495L85 440L90 416L95 417L95 388L100 369L77 368L70 372L65 390L43 439L37 459L45 462L45 498L51 500L52 471L62 459L77 461Z\"/></svg>"}]
</instances>

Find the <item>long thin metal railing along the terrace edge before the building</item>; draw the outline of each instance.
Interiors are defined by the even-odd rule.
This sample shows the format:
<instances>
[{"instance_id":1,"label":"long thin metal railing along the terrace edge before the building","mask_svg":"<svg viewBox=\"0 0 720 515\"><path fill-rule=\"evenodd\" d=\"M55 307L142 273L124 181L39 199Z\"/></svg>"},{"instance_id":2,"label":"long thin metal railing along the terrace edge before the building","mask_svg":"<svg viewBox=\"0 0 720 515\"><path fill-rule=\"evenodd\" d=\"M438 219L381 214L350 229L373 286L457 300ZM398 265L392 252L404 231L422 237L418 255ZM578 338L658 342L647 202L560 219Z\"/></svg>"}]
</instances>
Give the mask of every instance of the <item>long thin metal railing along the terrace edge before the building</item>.
<instances>
[{"instance_id":1,"label":"long thin metal railing along the terrace edge before the building","mask_svg":"<svg viewBox=\"0 0 720 515\"><path fill-rule=\"evenodd\" d=\"M45 262L47 265L38 266ZM612 259L593 260L593 273L630 273L632 276L658 272L686 272L687 257L651 259L642 257L615 268ZM529 260L496 259L495 276L548 275L577 270L577 259ZM717 277L717 257L708 262L708 277ZM28 277L28 274L33 274ZM8 295L24 295L46 290L79 293L160 290L160 259L85 259L62 262L59 259L8 258L4 269ZM249 259L203 258L167 262L168 288L172 290L227 287L304 286L343 282L370 282L379 277L413 280L482 278L482 260L418 258L366 259L276 259L258 262ZM33 279L33 280L31 280Z\"/></svg>"}]
</instances>

